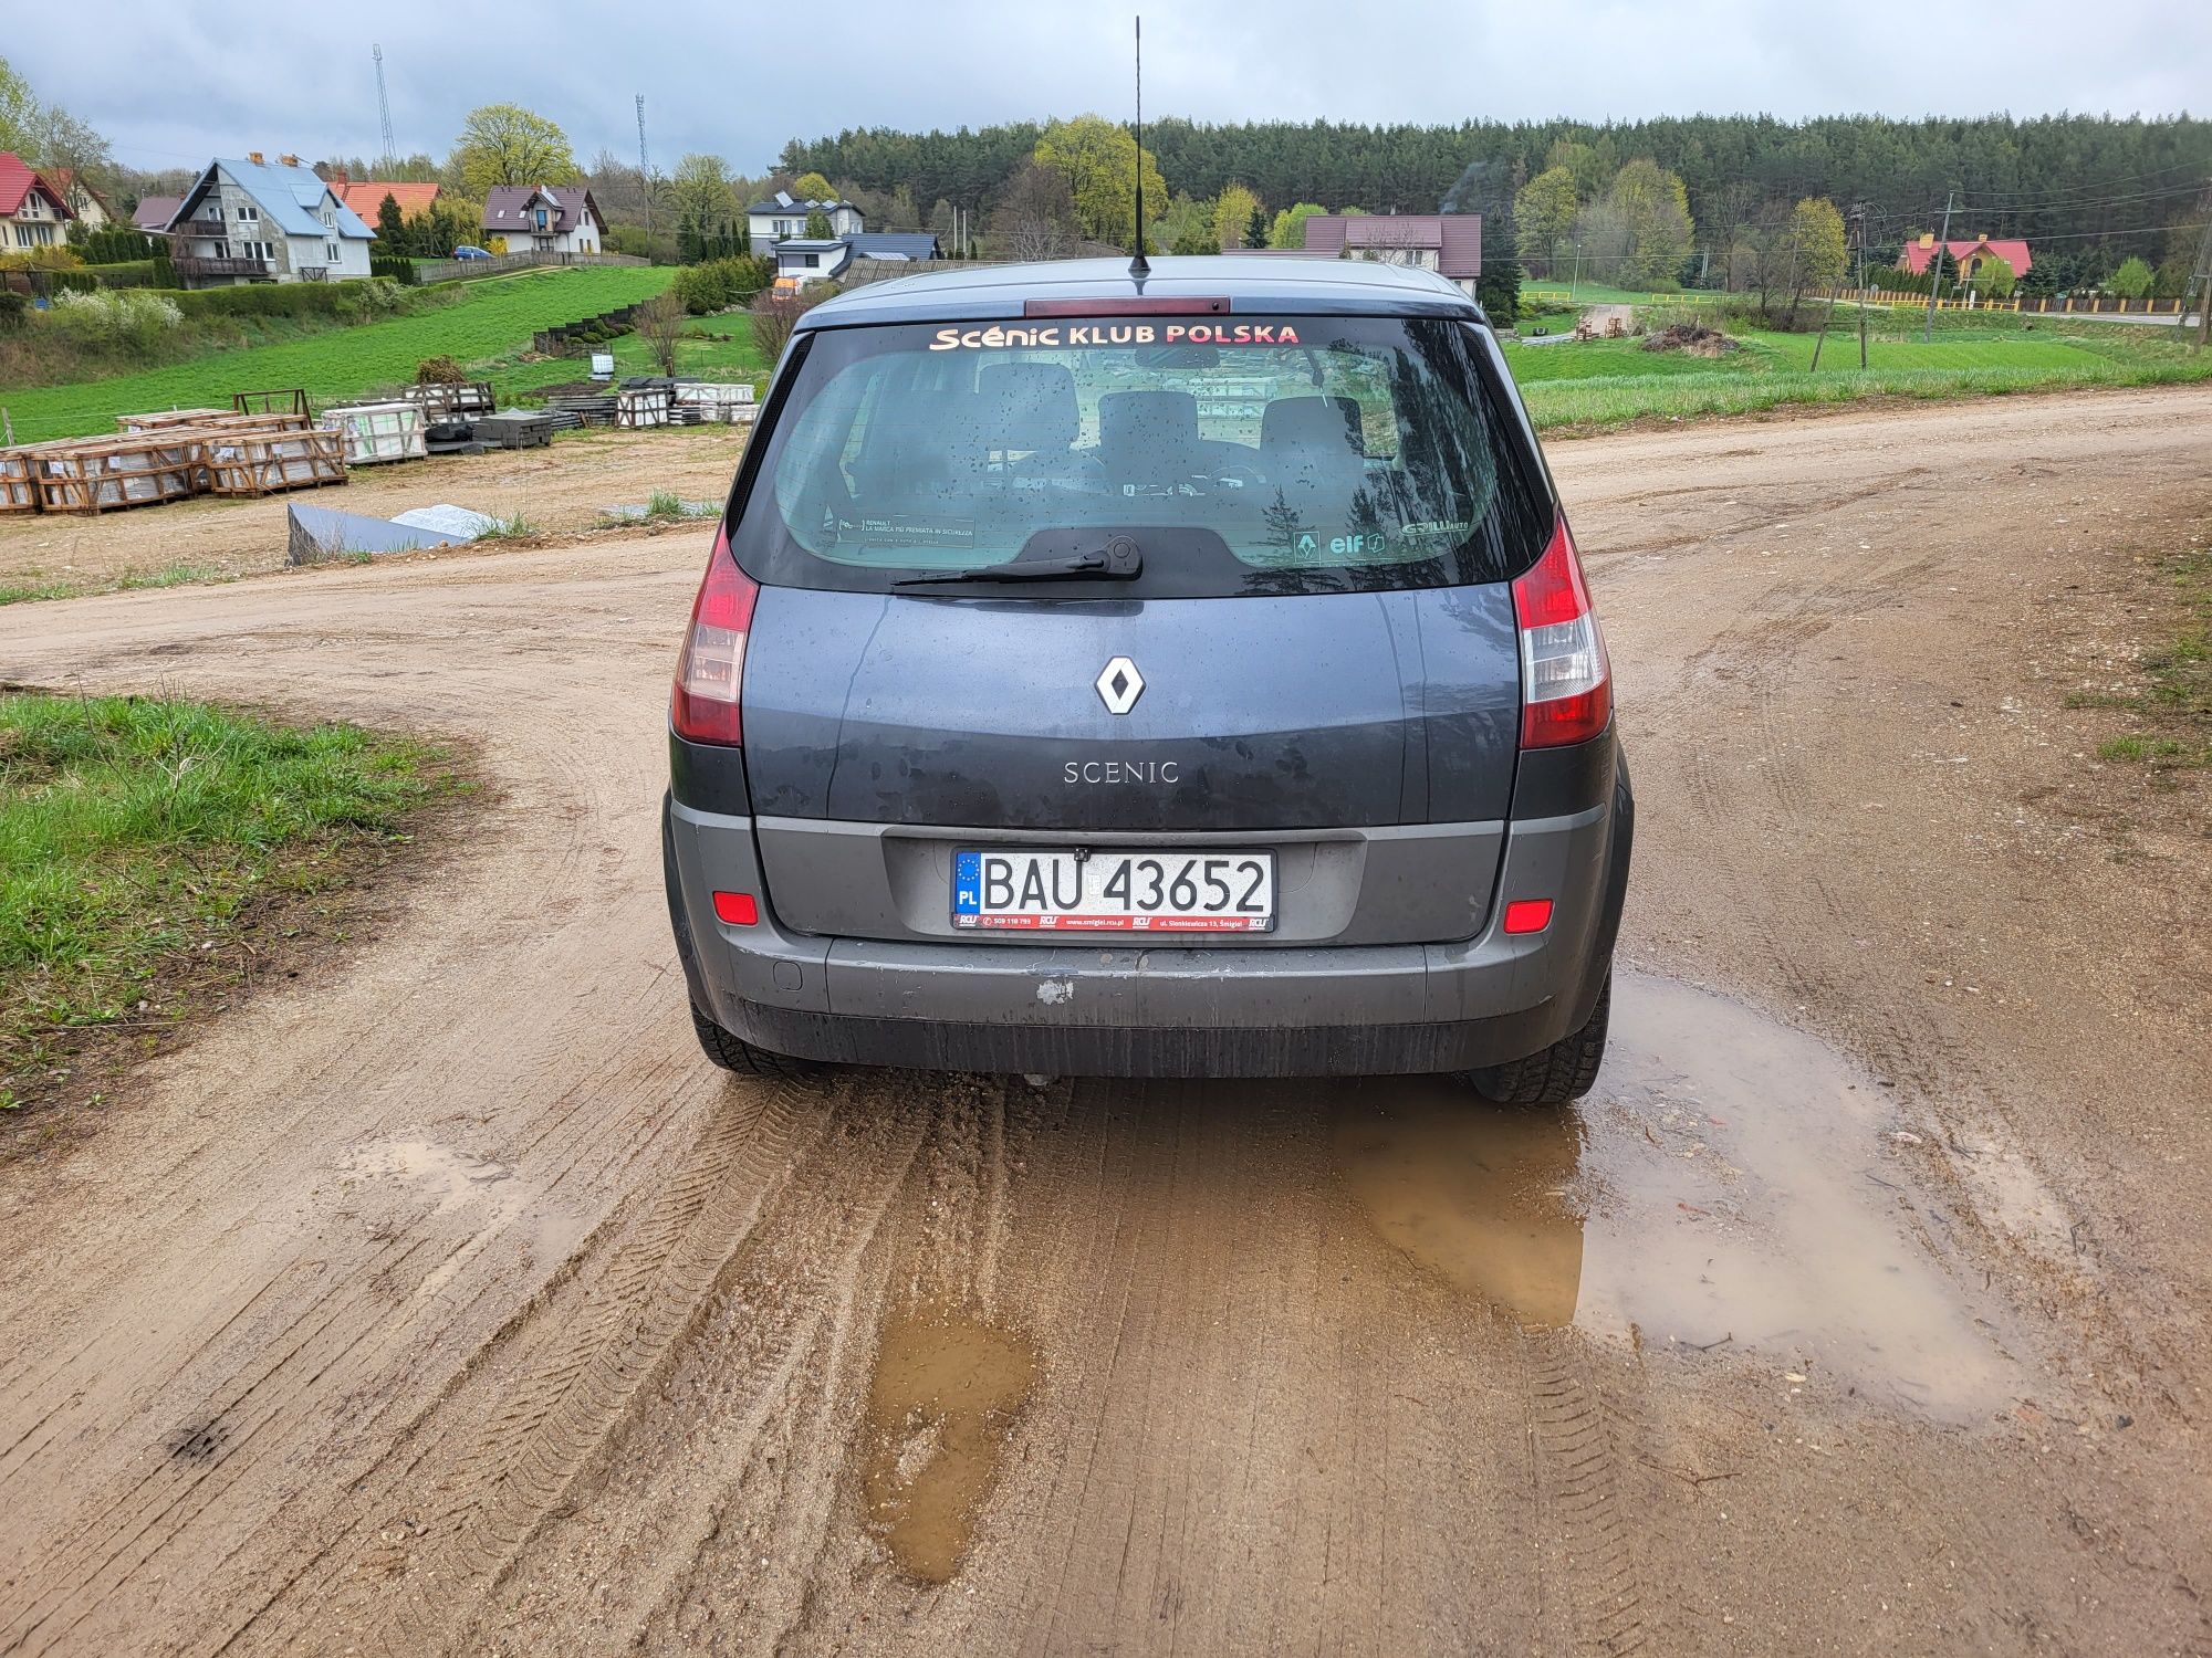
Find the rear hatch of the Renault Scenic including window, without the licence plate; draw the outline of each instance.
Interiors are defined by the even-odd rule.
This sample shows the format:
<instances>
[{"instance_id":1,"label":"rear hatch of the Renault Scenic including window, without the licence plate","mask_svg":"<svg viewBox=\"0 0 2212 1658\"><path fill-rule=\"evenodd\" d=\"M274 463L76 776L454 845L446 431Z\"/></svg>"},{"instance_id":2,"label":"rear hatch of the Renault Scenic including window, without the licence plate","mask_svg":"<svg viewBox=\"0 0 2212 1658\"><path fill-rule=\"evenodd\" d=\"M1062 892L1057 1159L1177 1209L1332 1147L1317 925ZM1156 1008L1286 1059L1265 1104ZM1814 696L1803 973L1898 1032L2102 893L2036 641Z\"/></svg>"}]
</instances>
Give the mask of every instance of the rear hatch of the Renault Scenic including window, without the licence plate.
<instances>
[{"instance_id":1,"label":"rear hatch of the Renault Scenic including window, without the licence plate","mask_svg":"<svg viewBox=\"0 0 2212 1658\"><path fill-rule=\"evenodd\" d=\"M1495 345L1170 327L841 329L787 371L728 528L783 926L975 937L962 851L1172 849L1272 864L1214 944L1480 931L1555 524Z\"/></svg>"}]
</instances>

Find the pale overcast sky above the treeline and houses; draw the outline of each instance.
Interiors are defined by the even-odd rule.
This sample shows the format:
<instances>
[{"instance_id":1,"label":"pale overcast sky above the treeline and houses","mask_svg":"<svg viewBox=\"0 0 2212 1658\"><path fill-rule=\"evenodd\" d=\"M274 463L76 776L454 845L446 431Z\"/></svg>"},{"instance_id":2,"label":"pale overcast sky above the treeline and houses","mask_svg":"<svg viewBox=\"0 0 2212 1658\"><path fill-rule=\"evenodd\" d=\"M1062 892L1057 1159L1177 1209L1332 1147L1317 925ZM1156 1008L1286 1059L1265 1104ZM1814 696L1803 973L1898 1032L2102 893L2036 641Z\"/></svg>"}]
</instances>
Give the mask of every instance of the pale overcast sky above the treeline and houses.
<instances>
[{"instance_id":1,"label":"pale overcast sky above the treeline and houses","mask_svg":"<svg viewBox=\"0 0 2212 1658\"><path fill-rule=\"evenodd\" d=\"M588 164L602 144L635 157L630 99L644 93L659 168L712 150L765 172L790 137L1121 115L1130 97L1130 9L1113 4L7 0L4 11L0 53L139 168L246 150L374 157L372 40L400 153L438 157L489 102L553 117ZM2172 115L2212 91L2212 7L2199 0L1144 0L1144 27L1146 111L1206 122Z\"/></svg>"}]
</instances>

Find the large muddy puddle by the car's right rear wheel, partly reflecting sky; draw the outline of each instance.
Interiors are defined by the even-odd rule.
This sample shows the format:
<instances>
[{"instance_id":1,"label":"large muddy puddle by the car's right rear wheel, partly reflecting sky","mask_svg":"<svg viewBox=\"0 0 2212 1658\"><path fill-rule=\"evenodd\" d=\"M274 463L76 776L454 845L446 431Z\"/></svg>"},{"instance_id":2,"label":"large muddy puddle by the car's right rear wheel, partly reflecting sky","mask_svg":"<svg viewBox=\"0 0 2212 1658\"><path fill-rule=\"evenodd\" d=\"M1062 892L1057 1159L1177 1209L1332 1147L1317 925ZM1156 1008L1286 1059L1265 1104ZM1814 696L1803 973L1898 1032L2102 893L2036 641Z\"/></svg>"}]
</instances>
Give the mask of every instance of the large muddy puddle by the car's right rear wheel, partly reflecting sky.
<instances>
[{"instance_id":1,"label":"large muddy puddle by the car's right rear wheel, partly reflecting sky","mask_svg":"<svg viewBox=\"0 0 2212 1658\"><path fill-rule=\"evenodd\" d=\"M1896 1130L1889 1096L1812 1037L1624 977L1579 1110L1365 1079L1334 1150L1387 1242L1533 1329L1754 1353L1792 1386L1986 1417L2020 1371L1995 1309L1942 1269L1951 1218Z\"/></svg>"}]
</instances>

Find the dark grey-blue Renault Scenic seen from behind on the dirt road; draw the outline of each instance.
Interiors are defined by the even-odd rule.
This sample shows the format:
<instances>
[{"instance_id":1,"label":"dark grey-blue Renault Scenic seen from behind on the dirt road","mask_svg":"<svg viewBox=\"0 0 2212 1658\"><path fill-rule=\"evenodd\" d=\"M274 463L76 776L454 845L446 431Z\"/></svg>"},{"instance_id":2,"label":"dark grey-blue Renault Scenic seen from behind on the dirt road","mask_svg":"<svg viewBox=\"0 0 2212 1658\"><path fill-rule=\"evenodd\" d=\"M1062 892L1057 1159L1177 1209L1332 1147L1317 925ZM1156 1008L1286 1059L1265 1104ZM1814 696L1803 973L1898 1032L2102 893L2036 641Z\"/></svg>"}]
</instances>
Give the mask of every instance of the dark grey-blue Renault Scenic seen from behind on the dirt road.
<instances>
[{"instance_id":1,"label":"dark grey-blue Renault Scenic seen from behind on the dirt road","mask_svg":"<svg viewBox=\"0 0 2212 1658\"><path fill-rule=\"evenodd\" d=\"M1590 1088L1632 798L1482 309L1402 265L799 323L670 701L706 1054Z\"/></svg>"}]
</instances>

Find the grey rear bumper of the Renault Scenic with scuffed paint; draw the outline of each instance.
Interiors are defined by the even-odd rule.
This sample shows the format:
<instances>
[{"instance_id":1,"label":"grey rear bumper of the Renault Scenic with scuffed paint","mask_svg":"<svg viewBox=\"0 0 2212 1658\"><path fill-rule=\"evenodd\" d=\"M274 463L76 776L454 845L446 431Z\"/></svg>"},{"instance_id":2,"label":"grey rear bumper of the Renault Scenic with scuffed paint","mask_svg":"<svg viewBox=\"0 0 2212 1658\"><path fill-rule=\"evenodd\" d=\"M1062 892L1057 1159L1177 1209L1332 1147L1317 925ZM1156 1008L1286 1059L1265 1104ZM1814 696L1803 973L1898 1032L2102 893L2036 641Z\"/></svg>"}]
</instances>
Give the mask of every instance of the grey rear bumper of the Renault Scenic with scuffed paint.
<instances>
[{"instance_id":1,"label":"grey rear bumper of the Renault Scenic with scuffed paint","mask_svg":"<svg viewBox=\"0 0 2212 1658\"><path fill-rule=\"evenodd\" d=\"M1555 904L1524 937L1493 915L1453 944L889 944L781 928L752 820L664 807L690 995L732 1035L801 1059L1091 1077L1438 1072L1546 1048L1604 984L1630 836L1626 767L1595 807L1515 820L1500 900ZM721 924L714 891L765 893L759 924Z\"/></svg>"}]
</instances>

